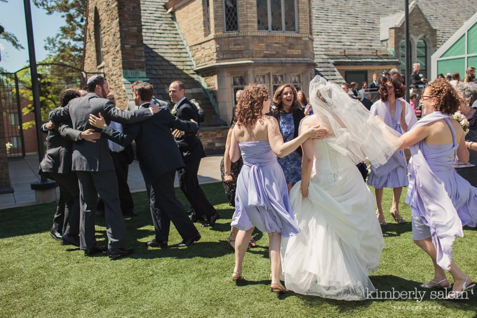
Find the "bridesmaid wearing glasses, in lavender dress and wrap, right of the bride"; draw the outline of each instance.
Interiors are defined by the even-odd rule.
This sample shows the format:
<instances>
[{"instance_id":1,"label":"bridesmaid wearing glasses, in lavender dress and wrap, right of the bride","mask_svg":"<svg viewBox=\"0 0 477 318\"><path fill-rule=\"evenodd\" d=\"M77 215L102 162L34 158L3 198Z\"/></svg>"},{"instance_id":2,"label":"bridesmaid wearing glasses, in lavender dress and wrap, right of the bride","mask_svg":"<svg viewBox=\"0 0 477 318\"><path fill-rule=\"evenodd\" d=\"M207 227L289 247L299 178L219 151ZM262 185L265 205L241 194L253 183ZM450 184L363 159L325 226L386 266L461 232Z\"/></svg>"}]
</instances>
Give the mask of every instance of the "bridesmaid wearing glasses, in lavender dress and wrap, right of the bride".
<instances>
[{"instance_id":1,"label":"bridesmaid wearing glasses, in lavender dress and wrap, right of the bride","mask_svg":"<svg viewBox=\"0 0 477 318\"><path fill-rule=\"evenodd\" d=\"M477 188L452 168L456 155L461 162L469 160L464 131L452 118L459 95L438 78L426 87L421 103L426 116L400 137L399 149L410 147L412 153L406 203L411 206L414 242L434 265L433 279L421 287L449 287L448 270L454 280L448 298L455 299L475 285L452 261L452 244L456 235L463 236L463 225L475 227Z\"/></svg>"}]
</instances>

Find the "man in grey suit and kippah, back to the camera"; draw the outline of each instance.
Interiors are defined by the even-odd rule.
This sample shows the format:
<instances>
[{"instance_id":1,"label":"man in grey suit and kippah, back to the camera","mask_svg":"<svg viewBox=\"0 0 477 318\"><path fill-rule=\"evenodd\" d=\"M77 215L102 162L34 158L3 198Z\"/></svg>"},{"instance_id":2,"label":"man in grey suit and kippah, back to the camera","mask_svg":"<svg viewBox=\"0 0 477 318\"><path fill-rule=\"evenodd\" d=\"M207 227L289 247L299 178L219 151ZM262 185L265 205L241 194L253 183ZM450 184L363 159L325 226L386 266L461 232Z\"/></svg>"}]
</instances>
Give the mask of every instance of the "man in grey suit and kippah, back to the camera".
<instances>
[{"instance_id":1,"label":"man in grey suit and kippah, back to the camera","mask_svg":"<svg viewBox=\"0 0 477 318\"><path fill-rule=\"evenodd\" d=\"M159 111L157 106L124 112L114 107L106 97L109 85L102 76L91 76L86 85L88 94L74 98L62 109L50 114L50 120L61 121L71 118L72 128L87 130L89 114L102 113L107 123L114 120L118 123L140 122L152 117ZM76 171L79 180L81 202L80 214L80 249L89 256L106 250L98 246L95 238L94 216L99 193L105 203L106 233L110 259L128 255L134 250L126 247L126 228L121 213L114 165L109 153L108 140L100 138L96 143L74 143L72 170Z\"/></svg>"}]
</instances>

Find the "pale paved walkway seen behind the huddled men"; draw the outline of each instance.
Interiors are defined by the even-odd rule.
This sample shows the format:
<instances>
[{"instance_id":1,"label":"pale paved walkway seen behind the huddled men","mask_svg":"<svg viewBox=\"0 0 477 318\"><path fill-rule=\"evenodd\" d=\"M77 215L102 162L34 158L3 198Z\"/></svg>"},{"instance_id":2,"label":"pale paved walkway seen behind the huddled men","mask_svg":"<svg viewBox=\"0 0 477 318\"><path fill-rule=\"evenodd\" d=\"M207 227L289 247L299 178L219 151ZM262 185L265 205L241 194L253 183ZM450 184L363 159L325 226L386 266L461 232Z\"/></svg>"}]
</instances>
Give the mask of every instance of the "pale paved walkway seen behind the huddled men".
<instances>
[{"instance_id":1,"label":"pale paved walkway seen behind the huddled men","mask_svg":"<svg viewBox=\"0 0 477 318\"><path fill-rule=\"evenodd\" d=\"M202 159L198 171L199 183L221 181L221 160L222 155L211 155ZM10 173L10 186L14 192L0 194L0 210L38 204L35 191L31 190L30 187L31 183L40 181L38 175L38 155L34 153L28 154L21 159L10 159L8 161L8 170ZM136 160L129 166L128 184L131 192L146 191L143 175ZM177 175L174 185L176 187L179 186ZM58 197L59 189L56 188L54 200L57 200Z\"/></svg>"}]
</instances>

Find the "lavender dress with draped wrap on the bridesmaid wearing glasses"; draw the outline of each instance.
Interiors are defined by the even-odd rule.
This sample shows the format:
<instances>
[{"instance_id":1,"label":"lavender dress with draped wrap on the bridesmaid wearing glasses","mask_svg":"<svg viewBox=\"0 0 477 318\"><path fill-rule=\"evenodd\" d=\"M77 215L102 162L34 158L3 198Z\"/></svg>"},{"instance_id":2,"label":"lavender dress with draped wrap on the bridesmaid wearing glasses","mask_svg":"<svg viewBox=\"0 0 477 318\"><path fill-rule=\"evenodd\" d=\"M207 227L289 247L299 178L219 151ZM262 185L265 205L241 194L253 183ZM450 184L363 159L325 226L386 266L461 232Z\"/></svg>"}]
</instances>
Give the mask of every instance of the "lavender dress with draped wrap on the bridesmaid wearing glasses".
<instances>
[{"instance_id":1,"label":"lavender dress with draped wrap on the bridesmaid wearing glasses","mask_svg":"<svg viewBox=\"0 0 477 318\"><path fill-rule=\"evenodd\" d=\"M452 144L426 145L422 140L410 147L409 188L406 204L412 217L420 217L430 231L437 251L438 265L449 269L455 235L463 236L462 226L475 227L477 188L452 168L459 144L450 124L450 115L433 112L413 128L444 119L452 131Z\"/></svg>"}]
</instances>

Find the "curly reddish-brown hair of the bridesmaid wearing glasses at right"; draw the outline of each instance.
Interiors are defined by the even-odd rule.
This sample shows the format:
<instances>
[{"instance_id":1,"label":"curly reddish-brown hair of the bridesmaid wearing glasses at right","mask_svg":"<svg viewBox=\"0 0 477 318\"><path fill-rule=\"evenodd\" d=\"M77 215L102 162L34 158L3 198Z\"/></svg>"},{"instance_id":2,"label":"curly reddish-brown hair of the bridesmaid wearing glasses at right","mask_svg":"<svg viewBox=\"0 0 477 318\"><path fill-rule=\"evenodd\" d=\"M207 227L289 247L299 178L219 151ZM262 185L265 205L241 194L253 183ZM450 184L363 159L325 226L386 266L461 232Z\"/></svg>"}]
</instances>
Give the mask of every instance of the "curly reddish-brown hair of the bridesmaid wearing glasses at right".
<instances>
[{"instance_id":1,"label":"curly reddish-brown hair of the bridesmaid wearing glasses at right","mask_svg":"<svg viewBox=\"0 0 477 318\"><path fill-rule=\"evenodd\" d=\"M452 115L459 110L461 97L454 87L444 78L436 78L427 85L429 88L429 96L436 99L434 109L442 111L445 114Z\"/></svg>"}]
</instances>

